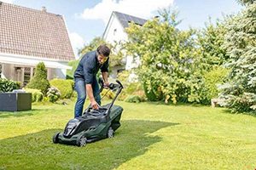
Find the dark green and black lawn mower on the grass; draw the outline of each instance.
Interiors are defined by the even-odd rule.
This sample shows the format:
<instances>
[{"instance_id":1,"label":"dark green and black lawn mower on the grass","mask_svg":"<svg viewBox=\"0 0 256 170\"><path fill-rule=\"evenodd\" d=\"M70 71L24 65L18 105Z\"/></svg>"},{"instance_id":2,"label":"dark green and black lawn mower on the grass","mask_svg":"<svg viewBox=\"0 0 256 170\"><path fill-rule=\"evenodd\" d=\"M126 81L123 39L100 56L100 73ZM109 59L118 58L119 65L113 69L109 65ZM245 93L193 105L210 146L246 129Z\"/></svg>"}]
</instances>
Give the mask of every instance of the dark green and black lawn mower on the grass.
<instances>
[{"instance_id":1,"label":"dark green and black lawn mower on the grass","mask_svg":"<svg viewBox=\"0 0 256 170\"><path fill-rule=\"evenodd\" d=\"M102 79L99 82L102 92L104 88ZM98 110L93 110L89 105L82 116L67 122L63 133L55 133L53 143L84 146L96 140L113 138L114 132L120 127L119 120L123 112L121 106L113 105L123 89L121 82L118 80L116 82L110 83L108 87L109 90L116 92L111 103L99 106Z\"/></svg>"}]
</instances>

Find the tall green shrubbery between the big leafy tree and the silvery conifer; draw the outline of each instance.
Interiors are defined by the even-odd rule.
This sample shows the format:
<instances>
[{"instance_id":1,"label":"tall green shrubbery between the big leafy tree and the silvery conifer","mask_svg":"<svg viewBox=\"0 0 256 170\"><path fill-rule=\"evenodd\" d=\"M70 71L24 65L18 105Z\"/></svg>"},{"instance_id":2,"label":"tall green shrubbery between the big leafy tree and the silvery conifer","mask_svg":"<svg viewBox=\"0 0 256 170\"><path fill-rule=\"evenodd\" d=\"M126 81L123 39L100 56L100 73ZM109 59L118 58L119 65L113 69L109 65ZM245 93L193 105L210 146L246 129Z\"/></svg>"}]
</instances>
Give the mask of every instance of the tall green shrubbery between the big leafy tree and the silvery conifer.
<instances>
[{"instance_id":1,"label":"tall green shrubbery between the big leafy tree and the silvery conifer","mask_svg":"<svg viewBox=\"0 0 256 170\"><path fill-rule=\"evenodd\" d=\"M197 48L201 51L201 67L203 68L203 79L200 96L201 103L210 104L212 98L218 98L218 85L226 81L228 69L224 63L229 55L224 48L224 36L227 33L226 23L230 16L224 20L217 20L212 24L211 19L206 23L205 28L198 30Z\"/></svg>"}]
</instances>

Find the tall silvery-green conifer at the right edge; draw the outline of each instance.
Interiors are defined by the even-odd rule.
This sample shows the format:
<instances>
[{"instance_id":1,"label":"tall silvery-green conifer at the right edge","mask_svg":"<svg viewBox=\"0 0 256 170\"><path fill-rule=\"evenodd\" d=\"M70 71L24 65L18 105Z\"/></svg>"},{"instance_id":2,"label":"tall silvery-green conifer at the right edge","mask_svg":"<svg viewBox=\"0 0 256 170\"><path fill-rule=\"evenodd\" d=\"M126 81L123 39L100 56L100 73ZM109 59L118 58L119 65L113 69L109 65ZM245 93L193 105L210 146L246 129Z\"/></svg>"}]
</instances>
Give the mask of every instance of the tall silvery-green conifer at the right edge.
<instances>
[{"instance_id":1,"label":"tall silvery-green conifer at the right edge","mask_svg":"<svg viewBox=\"0 0 256 170\"><path fill-rule=\"evenodd\" d=\"M256 107L256 3L230 20L224 47L230 54L229 82L221 89L224 105L232 111L255 111Z\"/></svg>"}]
</instances>

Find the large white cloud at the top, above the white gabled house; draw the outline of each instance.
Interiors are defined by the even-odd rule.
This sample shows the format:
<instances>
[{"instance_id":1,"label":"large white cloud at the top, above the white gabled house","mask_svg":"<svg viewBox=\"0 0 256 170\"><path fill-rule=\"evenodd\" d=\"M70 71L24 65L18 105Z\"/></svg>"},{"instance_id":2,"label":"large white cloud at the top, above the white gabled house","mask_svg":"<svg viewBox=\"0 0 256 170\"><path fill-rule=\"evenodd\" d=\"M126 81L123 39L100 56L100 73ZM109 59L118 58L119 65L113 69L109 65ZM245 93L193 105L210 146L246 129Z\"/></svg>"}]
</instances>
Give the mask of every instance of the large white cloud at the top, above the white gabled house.
<instances>
[{"instance_id":1,"label":"large white cloud at the top, above the white gabled house","mask_svg":"<svg viewBox=\"0 0 256 170\"><path fill-rule=\"evenodd\" d=\"M112 11L148 19L160 8L172 5L173 0L102 0L94 8L85 8L80 14L85 20L103 20L107 25Z\"/></svg>"}]
</instances>

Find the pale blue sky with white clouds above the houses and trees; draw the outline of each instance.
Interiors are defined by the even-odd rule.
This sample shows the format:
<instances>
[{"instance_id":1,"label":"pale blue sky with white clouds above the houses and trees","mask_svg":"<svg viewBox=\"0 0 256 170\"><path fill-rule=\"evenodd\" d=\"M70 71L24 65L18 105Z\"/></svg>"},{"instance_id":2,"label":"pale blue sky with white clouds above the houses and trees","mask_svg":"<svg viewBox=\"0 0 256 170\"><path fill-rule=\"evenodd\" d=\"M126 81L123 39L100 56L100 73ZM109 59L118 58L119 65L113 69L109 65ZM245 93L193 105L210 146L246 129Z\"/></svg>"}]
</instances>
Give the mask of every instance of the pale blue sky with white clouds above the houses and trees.
<instances>
[{"instance_id":1,"label":"pale blue sky with white clouds above the houses and trees","mask_svg":"<svg viewBox=\"0 0 256 170\"><path fill-rule=\"evenodd\" d=\"M212 23L224 14L236 14L242 7L236 0L1 0L26 8L61 14L67 23L67 31L78 58L78 49L94 37L101 37L112 14L119 11L146 20L158 15L161 8L175 8L182 20L181 30L202 28L211 17Z\"/></svg>"}]
</instances>

